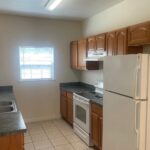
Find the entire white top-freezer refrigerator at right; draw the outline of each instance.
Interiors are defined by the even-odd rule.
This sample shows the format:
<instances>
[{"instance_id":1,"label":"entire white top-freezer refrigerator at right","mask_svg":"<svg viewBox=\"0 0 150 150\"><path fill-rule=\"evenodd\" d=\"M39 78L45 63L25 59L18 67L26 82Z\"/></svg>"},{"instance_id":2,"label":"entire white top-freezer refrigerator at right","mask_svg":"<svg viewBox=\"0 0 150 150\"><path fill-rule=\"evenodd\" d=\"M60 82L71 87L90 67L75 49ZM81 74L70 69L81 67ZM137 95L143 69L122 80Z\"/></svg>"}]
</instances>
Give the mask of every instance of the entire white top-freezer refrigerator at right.
<instances>
[{"instance_id":1,"label":"entire white top-freezer refrigerator at right","mask_svg":"<svg viewBox=\"0 0 150 150\"><path fill-rule=\"evenodd\" d=\"M150 150L150 55L104 59L103 150Z\"/></svg>"}]
</instances>

